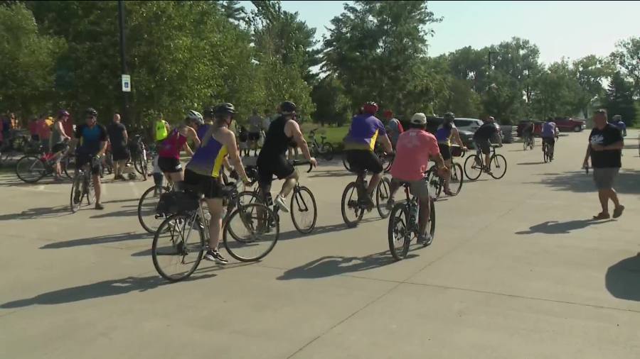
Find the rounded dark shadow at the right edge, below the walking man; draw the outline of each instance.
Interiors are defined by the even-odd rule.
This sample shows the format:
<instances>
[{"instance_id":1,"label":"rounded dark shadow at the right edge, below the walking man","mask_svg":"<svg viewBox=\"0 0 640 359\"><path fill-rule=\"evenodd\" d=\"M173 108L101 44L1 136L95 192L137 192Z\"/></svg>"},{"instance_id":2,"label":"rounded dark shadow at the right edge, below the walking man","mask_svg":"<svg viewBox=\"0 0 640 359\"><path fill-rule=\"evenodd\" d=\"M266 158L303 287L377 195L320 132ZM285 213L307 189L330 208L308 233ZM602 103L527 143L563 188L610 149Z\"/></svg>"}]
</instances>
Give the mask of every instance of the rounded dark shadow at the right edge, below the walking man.
<instances>
[{"instance_id":1,"label":"rounded dark shadow at the right edge, below the walking man","mask_svg":"<svg viewBox=\"0 0 640 359\"><path fill-rule=\"evenodd\" d=\"M640 253L607 269L604 285L612 296L640 302Z\"/></svg>"}]
</instances>

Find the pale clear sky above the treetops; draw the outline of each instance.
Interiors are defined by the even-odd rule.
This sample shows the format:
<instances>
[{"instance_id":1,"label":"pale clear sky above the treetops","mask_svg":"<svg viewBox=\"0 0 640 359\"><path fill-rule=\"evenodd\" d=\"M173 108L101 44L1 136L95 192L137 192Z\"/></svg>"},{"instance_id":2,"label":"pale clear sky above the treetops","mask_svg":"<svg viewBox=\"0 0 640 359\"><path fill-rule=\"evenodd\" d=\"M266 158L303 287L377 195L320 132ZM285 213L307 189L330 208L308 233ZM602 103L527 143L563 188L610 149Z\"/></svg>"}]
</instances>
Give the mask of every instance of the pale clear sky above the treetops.
<instances>
[{"instance_id":1,"label":"pale clear sky above the treetops","mask_svg":"<svg viewBox=\"0 0 640 359\"><path fill-rule=\"evenodd\" d=\"M255 9L250 1L240 2ZM321 40L344 2L282 1L282 8L297 11ZM549 64L609 55L618 40L640 36L640 1L429 1L428 8L444 18L432 24L431 56L518 36L538 45L540 60Z\"/></svg>"}]
</instances>

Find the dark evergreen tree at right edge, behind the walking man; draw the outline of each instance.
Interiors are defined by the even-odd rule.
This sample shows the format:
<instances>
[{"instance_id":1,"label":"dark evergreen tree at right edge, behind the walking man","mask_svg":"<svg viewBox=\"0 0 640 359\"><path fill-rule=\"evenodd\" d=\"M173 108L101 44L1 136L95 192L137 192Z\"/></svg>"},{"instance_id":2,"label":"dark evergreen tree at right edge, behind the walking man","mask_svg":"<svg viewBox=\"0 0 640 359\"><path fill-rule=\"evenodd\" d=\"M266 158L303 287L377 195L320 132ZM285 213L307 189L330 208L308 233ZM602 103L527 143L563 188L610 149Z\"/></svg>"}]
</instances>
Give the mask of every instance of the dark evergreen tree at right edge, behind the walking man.
<instances>
[{"instance_id":1,"label":"dark evergreen tree at right edge, behind the walking man","mask_svg":"<svg viewBox=\"0 0 640 359\"><path fill-rule=\"evenodd\" d=\"M604 108L607 109L609 118L614 115L622 116L622 121L627 126L631 126L636 123L638 109L636 107L634 96L632 92L633 84L624 78L624 74L621 72L615 72L611 82L609 82L609 88L607 93L602 99Z\"/></svg>"}]
</instances>

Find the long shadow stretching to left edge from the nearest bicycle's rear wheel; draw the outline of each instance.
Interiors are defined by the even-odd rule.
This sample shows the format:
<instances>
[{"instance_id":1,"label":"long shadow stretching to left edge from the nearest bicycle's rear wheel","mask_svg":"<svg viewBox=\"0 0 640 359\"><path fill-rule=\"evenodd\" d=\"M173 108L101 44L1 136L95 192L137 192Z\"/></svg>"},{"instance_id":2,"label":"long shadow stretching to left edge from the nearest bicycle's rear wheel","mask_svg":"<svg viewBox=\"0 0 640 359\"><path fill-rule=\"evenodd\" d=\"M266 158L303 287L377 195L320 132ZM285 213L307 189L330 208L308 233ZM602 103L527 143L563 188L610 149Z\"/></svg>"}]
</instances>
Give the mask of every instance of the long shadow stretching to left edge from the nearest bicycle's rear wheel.
<instances>
[{"instance_id":1,"label":"long shadow stretching to left edge from the nearest bicycle's rear wheel","mask_svg":"<svg viewBox=\"0 0 640 359\"><path fill-rule=\"evenodd\" d=\"M188 277L188 279L183 280L183 282L210 277L215 277L215 274L191 276ZM127 294L129 292L144 292L148 289L154 289L161 285L168 284L170 283L158 275L152 275L150 277L126 277L119 280L104 280L90 285L80 285L78 287L54 290L53 292L38 294L36 297L28 299L6 302L1 304L0 308L11 309L35 304L63 304L79 302L81 300L111 297L113 295Z\"/></svg>"}]
</instances>

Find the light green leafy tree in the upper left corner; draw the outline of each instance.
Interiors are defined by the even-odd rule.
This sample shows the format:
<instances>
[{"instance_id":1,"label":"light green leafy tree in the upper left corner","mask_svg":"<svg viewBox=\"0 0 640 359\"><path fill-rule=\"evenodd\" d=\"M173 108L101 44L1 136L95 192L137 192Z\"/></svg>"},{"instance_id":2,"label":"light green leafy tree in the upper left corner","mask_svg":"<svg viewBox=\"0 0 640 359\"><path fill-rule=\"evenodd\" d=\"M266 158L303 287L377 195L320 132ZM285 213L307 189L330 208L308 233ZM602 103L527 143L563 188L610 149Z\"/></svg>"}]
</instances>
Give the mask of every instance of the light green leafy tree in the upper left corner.
<instances>
[{"instance_id":1,"label":"light green leafy tree in the upper left corner","mask_svg":"<svg viewBox=\"0 0 640 359\"><path fill-rule=\"evenodd\" d=\"M0 6L0 107L21 116L51 111L62 39L38 31L24 4Z\"/></svg>"}]
</instances>

